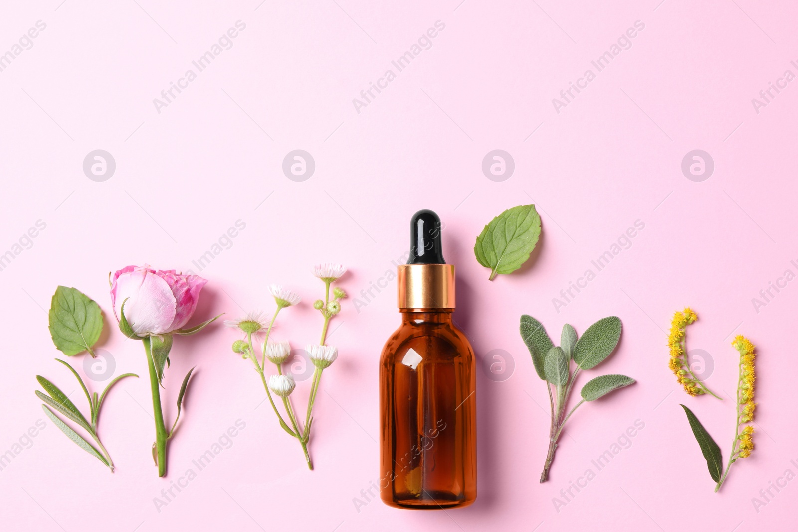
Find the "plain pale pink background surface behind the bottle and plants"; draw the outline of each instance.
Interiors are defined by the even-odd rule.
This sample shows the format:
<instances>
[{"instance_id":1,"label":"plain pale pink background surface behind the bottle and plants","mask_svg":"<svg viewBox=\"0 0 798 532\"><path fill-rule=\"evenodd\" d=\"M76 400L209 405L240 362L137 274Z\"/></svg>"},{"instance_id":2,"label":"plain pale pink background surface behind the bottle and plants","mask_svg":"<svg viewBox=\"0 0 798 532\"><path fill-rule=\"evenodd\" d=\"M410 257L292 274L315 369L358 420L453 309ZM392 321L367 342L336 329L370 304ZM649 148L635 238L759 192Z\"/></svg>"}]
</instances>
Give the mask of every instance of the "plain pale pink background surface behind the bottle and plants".
<instances>
[{"instance_id":1,"label":"plain pale pink background surface behind the bottle and plants","mask_svg":"<svg viewBox=\"0 0 798 532\"><path fill-rule=\"evenodd\" d=\"M785 530L798 480L765 506L760 489L798 473L795 343L798 282L767 305L752 298L784 270L798 273L794 227L796 81L759 112L752 104L798 59L790 2L16 2L0 16L0 53L41 20L33 47L0 72L0 253L38 220L30 249L0 271L6 362L0 376L0 453L46 419L34 376L80 389L47 333L56 286L76 286L107 318L102 349L117 374L138 372L110 394L100 422L117 463L113 475L45 429L0 471L4 526L14 530ZM236 21L246 24L167 107L153 98L177 82ZM436 21L445 29L386 89L357 112L352 103ZM625 49L571 103L552 98L641 21ZM595 69L594 69L595 72ZM774 93L775 94L775 93ZM87 153L110 152L102 183L82 169ZM282 160L301 148L314 174L294 182ZM515 171L494 182L483 157L512 154ZM681 160L712 156L713 174L693 182ZM488 282L472 254L485 223L535 203L538 251L516 274ZM409 217L431 208L444 220L444 254L456 264L455 317L480 361L503 349L514 371L479 368L479 496L461 510L359 508L377 471L377 360L398 325L393 282L381 282L408 246ZM788 214L790 213L790 214ZM241 220L232 246L199 272L192 261ZM631 246L587 288L555 309L552 299L640 220ZM24 239L23 239L24 240ZM25 241L24 243L28 243ZM124 340L110 313L107 273L132 263L195 270L210 280L192 322L226 312L271 311L271 282L298 290L278 338L315 341L310 303L322 283L314 262L350 267L352 298L333 322L340 357L322 380L310 472L283 434L235 334L214 326L176 339L164 404L196 365L184 424L156 477L146 366L140 342ZM784 285L784 283L782 283ZM689 345L714 365L707 384L732 392L745 333L757 345L756 450L720 494L678 404L688 404L727 456L733 403L685 396L667 368L666 330L675 309L700 321ZM758 310L758 311L757 311ZM518 333L530 313L559 338L610 314L622 318L618 351L591 376L622 372L632 388L579 409L567 426L548 483L537 482L547 445L547 393ZM82 371L83 356L71 362ZM505 375L506 376L506 375ZM586 382L582 376L580 382ZM309 381L295 399L304 404ZM90 384L93 389L102 383ZM232 439L167 506L153 499L177 482L219 437ZM636 420L630 446L596 471ZM790 460L795 459L796 463ZM565 506L588 468L595 479ZM196 469L196 468L195 468ZM365 499L364 499L365 500ZM561 499L565 500L565 499ZM764 500L764 499L762 499ZM559 511L558 511L559 510ZM758 511L757 511L758 510ZM789 525L787 524L789 523Z\"/></svg>"}]
</instances>

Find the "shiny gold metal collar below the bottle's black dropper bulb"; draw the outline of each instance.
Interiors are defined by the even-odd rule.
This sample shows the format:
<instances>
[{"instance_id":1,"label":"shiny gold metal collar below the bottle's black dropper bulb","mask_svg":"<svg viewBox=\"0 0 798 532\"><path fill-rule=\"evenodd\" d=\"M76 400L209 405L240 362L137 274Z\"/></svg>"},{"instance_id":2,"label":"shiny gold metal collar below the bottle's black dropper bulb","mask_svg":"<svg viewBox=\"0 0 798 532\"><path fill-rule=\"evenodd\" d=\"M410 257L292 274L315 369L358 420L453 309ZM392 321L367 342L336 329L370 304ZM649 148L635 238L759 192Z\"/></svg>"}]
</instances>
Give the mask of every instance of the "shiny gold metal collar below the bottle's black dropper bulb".
<instances>
[{"instance_id":1,"label":"shiny gold metal collar below the bottle's black dropper bulb","mask_svg":"<svg viewBox=\"0 0 798 532\"><path fill-rule=\"evenodd\" d=\"M400 309L453 309L453 264L401 264L397 267Z\"/></svg>"}]
</instances>

